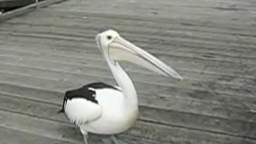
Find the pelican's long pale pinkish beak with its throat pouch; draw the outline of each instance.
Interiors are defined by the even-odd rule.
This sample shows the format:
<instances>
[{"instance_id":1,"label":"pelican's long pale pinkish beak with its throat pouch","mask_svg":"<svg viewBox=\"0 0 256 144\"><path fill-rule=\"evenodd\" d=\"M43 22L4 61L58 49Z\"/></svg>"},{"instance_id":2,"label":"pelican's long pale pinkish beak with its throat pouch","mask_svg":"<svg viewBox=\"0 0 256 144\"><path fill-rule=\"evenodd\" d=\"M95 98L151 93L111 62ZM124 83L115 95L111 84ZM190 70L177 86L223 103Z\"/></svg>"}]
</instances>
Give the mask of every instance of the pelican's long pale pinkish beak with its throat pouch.
<instances>
[{"instance_id":1,"label":"pelican's long pale pinkish beak with its throat pouch","mask_svg":"<svg viewBox=\"0 0 256 144\"><path fill-rule=\"evenodd\" d=\"M117 36L108 45L108 54L111 60L125 60L155 71L164 76L183 79L174 69L157 59L140 47L126 41L121 36Z\"/></svg>"}]
</instances>

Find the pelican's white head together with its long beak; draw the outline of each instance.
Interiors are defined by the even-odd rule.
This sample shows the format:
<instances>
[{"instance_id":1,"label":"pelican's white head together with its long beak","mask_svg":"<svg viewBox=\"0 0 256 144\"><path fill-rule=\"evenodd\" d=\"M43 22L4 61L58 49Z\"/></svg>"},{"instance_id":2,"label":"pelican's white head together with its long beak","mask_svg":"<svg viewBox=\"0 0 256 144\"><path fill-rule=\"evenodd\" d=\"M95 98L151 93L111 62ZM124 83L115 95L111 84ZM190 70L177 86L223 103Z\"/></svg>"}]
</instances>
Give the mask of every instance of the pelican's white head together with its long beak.
<instances>
[{"instance_id":1,"label":"pelican's white head together with its long beak","mask_svg":"<svg viewBox=\"0 0 256 144\"><path fill-rule=\"evenodd\" d=\"M167 66L140 47L126 41L115 30L106 30L96 36L99 49L105 54L113 65L116 61L124 60L155 71L164 76L183 79L175 70Z\"/></svg>"}]
</instances>

